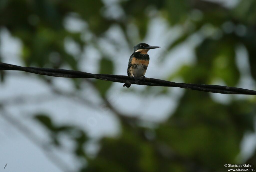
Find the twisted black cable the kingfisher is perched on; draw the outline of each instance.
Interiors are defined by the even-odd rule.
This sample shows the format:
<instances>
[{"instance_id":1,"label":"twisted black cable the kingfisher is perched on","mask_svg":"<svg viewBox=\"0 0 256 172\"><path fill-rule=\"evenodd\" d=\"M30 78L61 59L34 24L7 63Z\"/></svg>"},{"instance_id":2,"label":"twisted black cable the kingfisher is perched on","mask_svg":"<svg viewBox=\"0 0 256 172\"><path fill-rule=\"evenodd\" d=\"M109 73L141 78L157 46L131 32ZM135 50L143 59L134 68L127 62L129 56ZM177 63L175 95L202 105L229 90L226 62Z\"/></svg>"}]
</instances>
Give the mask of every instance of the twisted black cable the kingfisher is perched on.
<instances>
[{"instance_id":1,"label":"twisted black cable the kingfisher is perched on","mask_svg":"<svg viewBox=\"0 0 256 172\"><path fill-rule=\"evenodd\" d=\"M64 70L64 69L20 67L20 66L6 64L6 63L0 63L0 70L17 70L17 71L35 73L39 75L66 77L66 78L95 78L99 80L120 82L120 83L125 83L129 81L131 84L138 84L138 85L180 87L180 88L205 91L205 92L215 92L215 93L221 93L221 94L256 95L256 91L254 90L248 90L248 89L236 88L236 87L206 85L206 84L175 83L175 82L170 82L165 80L158 80L155 78L145 78L145 81L139 80L137 83L135 83L135 80L132 76L92 74L87 72Z\"/></svg>"}]
</instances>

